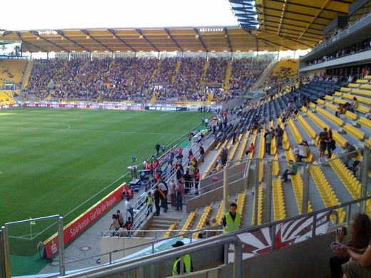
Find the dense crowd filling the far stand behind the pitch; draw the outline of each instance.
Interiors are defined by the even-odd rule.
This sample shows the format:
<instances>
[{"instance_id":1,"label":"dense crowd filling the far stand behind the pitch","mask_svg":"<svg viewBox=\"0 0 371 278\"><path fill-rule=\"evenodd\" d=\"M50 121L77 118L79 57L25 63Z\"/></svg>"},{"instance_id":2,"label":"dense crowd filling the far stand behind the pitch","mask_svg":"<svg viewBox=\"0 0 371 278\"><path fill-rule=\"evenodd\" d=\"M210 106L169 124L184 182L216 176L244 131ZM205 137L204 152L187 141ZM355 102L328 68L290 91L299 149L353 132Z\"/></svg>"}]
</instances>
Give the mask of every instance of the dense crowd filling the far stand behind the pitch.
<instances>
[{"instance_id":1,"label":"dense crowd filling the far stand behind the pitch","mask_svg":"<svg viewBox=\"0 0 371 278\"><path fill-rule=\"evenodd\" d=\"M178 71L176 66L181 61ZM230 90L223 88L228 60L210 58L203 81L205 58L103 58L34 61L29 97L66 101L225 101L250 88L268 62L253 58L233 61ZM210 84L219 84L210 88Z\"/></svg>"}]
</instances>

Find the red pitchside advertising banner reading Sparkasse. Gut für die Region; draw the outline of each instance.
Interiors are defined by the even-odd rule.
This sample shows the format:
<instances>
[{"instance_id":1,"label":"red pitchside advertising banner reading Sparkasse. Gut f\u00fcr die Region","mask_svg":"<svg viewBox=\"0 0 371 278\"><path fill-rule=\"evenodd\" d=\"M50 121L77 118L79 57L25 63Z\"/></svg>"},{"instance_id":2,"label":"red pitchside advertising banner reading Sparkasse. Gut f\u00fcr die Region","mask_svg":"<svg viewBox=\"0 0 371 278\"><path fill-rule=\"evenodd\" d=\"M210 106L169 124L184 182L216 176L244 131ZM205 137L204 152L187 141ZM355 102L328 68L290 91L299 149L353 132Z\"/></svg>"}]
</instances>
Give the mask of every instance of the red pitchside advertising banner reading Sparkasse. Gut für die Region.
<instances>
[{"instance_id":1,"label":"red pitchside advertising banner reading Sparkasse. Gut f\u00fcr die Region","mask_svg":"<svg viewBox=\"0 0 371 278\"><path fill-rule=\"evenodd\" d=\"M93 225L99 217L116 205L122 199L122 192L127 188L126 182L113 190L110 194L83 212L75 220L68 223L63 228L63 242L64 245L76 239L83 231ZM51 258L58 252L58 235L54 234L44 242L46 257Z\"/></svg>"}]
</instances>

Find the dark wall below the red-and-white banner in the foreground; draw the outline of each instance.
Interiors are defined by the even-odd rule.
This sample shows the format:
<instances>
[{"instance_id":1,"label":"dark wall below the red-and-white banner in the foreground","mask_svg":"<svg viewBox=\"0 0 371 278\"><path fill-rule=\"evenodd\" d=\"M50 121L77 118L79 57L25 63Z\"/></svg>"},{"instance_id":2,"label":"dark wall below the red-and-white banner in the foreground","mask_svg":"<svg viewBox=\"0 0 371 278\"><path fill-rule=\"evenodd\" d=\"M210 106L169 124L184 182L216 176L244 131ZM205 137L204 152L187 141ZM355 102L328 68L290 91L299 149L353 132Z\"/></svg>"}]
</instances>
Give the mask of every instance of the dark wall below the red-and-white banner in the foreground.
<instances>
[{"instance_id":1,"label":"dark wall below the red-and-white banner in the foreground","mask_svg":"<svg viewBox=\"0 0 371 278\"><path fill-rule=\"evenodd\" d=\"M330 244L334 240L335 232L331 232L283 249L273 250L265 255L245 259L243 261L243 277L330 277L329 259L333 256ZM233 277L233 265L228 264L182 277Z\"/></svg>"}]
</instances>

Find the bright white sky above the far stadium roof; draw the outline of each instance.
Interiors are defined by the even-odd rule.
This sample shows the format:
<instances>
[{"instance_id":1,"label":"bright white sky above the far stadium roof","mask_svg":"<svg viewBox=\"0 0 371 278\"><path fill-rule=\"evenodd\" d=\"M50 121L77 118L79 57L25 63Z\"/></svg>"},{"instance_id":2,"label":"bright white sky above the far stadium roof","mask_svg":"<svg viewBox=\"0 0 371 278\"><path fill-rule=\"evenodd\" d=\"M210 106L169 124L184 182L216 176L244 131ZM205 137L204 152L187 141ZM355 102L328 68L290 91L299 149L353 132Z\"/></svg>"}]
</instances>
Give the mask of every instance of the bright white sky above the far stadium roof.
<instances>
[{"instance_id":1,"label":"bright white sky above the far stadium roof","mask_svg":"<svg viewBox=\"0 0 371 278\"><path fill-rule=\"evenodd\" d=\"M237 26L228 0L19 0L0 29Z\"/></svg>"}]
</instances>

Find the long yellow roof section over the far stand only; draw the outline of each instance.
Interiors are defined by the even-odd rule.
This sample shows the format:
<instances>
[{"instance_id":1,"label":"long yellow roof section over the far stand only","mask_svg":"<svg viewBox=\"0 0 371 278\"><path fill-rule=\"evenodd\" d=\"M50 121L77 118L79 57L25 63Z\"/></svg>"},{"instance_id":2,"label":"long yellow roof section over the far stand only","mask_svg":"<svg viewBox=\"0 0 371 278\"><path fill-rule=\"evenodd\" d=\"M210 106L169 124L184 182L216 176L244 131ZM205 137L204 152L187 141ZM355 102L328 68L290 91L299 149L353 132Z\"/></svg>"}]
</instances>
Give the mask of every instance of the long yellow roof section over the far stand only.
<instances>
[{"instance_id":1,"label":"long yellow roof section over the far stand only","mask_svg":"<svg viewBox=\"0 0 371 278\"><path fill-rule=\"evenodd\" d=\"M5 31L2 38L21 40L23 51L31 52L242 52L283 51L310 47L274 34L250 32L238 26Z\"/></svg>"}]
</instances>

